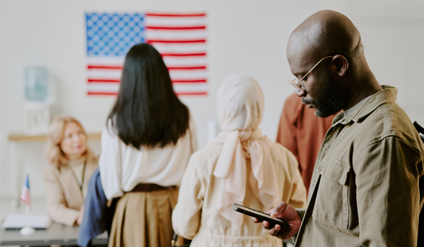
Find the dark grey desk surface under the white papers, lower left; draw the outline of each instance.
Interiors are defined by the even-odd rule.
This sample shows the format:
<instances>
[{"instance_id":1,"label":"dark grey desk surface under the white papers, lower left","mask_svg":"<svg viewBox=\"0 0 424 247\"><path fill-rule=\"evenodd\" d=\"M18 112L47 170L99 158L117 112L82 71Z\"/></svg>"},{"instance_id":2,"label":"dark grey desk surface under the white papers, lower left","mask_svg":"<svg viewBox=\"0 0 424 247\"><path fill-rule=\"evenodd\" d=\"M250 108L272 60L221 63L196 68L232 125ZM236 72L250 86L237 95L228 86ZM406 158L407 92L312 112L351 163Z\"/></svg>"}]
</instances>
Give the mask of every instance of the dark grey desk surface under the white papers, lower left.
<instances>
[{"instance_id":1,"label":"dark grey desk surface under the white papers, lower left","mask_svg":"<svg viewBox=\"0 0 424 247\"><path fill-rule=\"evenodd\" d=\"M23 236L19 230L0 231L0 246L76 246L79 227L66 227L62 224L53 223L47 230L36 230L35 234ZM107 245L107 233L100 234L93 239L93 245Z\"/></svg>"}]
</instances>

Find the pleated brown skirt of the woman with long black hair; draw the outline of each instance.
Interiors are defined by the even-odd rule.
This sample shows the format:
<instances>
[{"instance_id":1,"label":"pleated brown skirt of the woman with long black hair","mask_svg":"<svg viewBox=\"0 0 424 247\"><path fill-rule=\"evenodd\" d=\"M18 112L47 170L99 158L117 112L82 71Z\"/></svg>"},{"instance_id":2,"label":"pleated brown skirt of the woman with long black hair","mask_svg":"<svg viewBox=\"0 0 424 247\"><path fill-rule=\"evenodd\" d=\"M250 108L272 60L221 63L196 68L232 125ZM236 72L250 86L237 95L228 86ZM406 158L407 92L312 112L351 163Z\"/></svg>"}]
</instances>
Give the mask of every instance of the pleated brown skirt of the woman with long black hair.
<instances>
[{"instance_id":1,"label":"pleated brown skirt of the woman with long black hair","mask_svg":"<svg viewBox=\"0 0 424 247\"><path fill-rule=\"evenodd\" d=\"M171 246L177 188L125 193L117 203L108 247Z\"/></svg>"}]
</instances>

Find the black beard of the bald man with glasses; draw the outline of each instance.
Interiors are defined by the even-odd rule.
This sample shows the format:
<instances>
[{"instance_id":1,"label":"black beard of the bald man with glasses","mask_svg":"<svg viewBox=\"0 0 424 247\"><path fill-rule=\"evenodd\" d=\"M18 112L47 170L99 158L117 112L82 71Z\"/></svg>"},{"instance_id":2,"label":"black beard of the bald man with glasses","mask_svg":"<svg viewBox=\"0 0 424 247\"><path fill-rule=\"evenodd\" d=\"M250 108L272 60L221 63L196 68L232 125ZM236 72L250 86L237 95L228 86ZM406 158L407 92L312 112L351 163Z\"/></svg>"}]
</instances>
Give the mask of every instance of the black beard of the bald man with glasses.
<instances>
[{"instance_id":1,"label":"black beard of the bald man with glasses","mask_svg":"<svg viewBox=\"0 0 424 247\"><path fill-rule=\"evenodd\" d=\"M321 93L318 95L317 100L304 100L306 104L313 104L315 107L314 114L319 118L326 118L340 112L344 106L345 97L341 88L338 87L334 81L333 76L326 70L326 83Z\"/></svg>"}]
</instances>

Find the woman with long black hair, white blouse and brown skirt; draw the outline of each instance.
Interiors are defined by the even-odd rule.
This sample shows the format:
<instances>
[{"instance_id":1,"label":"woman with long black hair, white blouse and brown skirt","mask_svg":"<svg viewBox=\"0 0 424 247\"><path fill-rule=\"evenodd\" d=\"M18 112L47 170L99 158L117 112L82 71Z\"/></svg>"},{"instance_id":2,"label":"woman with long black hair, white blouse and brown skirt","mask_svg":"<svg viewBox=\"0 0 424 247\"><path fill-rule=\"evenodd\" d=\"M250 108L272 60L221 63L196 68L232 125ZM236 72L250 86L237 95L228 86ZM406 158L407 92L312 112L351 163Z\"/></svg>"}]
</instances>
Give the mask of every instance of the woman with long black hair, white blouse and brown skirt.
<instances>
[{"instance_id":1,"label":"woman with long black hair, white blouse and brown skirt","mask_svg":"<svg viewBox=\"0 0 424 247\"><path fill-rule=\"evenodd\" d=\"M102 187L107 199L120 197L110 247L170 245L177 186L196 149L194 121L162 57L150 44L136 44L102 131Z\"/></svg>"}]
</instances>

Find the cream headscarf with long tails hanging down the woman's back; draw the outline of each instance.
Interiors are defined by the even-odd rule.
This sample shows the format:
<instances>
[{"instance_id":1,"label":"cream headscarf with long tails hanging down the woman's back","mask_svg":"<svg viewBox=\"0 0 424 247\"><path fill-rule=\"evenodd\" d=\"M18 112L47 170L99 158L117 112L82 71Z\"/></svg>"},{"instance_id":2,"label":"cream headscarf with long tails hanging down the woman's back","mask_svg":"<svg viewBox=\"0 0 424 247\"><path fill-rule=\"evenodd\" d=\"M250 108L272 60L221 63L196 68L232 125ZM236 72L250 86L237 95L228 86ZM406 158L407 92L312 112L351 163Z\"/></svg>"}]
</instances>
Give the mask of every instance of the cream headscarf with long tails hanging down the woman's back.
<instances>
[{"instance_id":1,"label":"cream headscarf with long tails hanging down the woman's back","mask_svg":"<svg viewBox=\"0 0 424 247\"><path fill-rule=\"evenodd\" d=\"M217 210L225 219L241 225L243 216L232 209L232 203L242 204L245 200L246 159L251 159L249 183L259 201L271 208L281 197L269 151L273 142L258 128L264 113L264 95L256 80L235 75L220 85L217 104L222 131L211 140L223 143L213 171L221 179Z\"/></svg>"}]
</instances>

